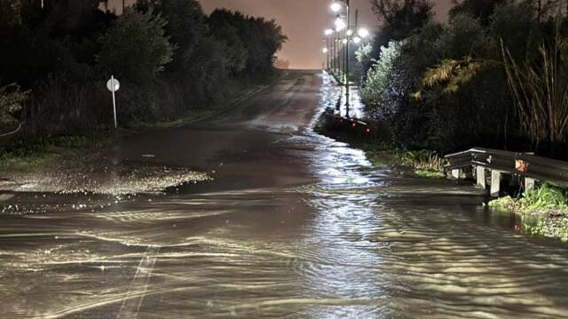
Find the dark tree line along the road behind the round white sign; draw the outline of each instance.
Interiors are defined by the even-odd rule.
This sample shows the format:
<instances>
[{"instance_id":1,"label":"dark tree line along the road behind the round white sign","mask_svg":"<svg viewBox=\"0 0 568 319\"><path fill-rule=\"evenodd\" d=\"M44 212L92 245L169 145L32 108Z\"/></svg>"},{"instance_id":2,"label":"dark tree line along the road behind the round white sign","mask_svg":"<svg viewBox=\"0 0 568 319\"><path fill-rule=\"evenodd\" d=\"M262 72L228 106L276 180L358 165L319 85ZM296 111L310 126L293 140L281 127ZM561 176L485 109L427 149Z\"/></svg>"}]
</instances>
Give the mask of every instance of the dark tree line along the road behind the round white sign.
<instances>
[{"instance_id":1,"label":"dark tree line along the road behind the round white sign","mask_svg":"<svg viewBox=\"0 0 568 319\"><path fill-rule=\"evenodd\" d=\"M274 76L274 55L287 40L273 20L226 10L208 16L196 0L140 0L121 16L99 0L41 3L0 2L4 131L20 120L31 133L111 124L111 75L122 84L122 124L211 108Z\"/></svg>"}]
</instances>

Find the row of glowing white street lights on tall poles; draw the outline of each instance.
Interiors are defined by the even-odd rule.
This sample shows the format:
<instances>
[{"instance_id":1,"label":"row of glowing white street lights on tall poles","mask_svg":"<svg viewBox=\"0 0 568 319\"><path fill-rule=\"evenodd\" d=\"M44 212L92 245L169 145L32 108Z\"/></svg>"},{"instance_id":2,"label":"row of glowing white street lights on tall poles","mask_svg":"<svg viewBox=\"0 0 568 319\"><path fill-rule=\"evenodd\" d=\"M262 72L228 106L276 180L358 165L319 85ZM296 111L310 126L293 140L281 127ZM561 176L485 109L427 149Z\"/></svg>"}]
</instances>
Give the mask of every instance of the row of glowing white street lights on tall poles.
<instances>
[{"instance_id":1,"label":"row of glowing white street lights on tall poles","mask_svg":"<svg viewBox=\"0 0 568 319\"><path fill-rule=\"evenodd\" d=\"M340 12L343 11L343 5L345 7L345 18L343 19ZM346 116L349 117L349 68L350 68L350 54L349 54L349 44L353 42L354 44L360 44L364 38L369 36L369 31L367 28L358 29L358 16L359 12L355 12L355 26L354 29L357 30L357 34L351 28L351 14L350 14L350 0L336 0L330 5L330 8L335 12L335 28L328 28L324 31L326 35L325 41L327 43L326 47L323 48L322 52L327 54L327 69L331 69L333 64L333 71L336 73L337 68L341 74L342 57L337 57L337 44L343 44L343 74L344 74L344 84L345 84L345 109ZM343 34L342 34L343 33ZM333 46L330 45L329 37L333 36ZM341 52L341 49L340 49Z\"/></svg>"}]
</instances>

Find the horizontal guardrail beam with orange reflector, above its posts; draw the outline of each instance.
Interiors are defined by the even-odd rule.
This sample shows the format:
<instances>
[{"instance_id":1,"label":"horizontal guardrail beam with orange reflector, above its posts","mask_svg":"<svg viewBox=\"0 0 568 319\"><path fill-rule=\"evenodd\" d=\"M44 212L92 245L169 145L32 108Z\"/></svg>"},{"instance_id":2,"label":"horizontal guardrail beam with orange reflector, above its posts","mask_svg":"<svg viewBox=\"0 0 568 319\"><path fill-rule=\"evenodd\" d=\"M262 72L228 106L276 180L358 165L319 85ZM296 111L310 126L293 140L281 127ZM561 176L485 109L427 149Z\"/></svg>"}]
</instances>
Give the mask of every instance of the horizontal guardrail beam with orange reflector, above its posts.
<instances>
[{"instance_id":1,"label":"horizontal guardrail beam with orange reflector, above its posts","mask_svg":"<svg viewBox=\"0 0 568 319\"><path fill-rule=\"evenodd\" d=\"M532 154L490 148L471 148L448 155L446 160L448 171L477 166L548 181L559 186L568 186L568 163Z\"/></svg>"}]
</instances>

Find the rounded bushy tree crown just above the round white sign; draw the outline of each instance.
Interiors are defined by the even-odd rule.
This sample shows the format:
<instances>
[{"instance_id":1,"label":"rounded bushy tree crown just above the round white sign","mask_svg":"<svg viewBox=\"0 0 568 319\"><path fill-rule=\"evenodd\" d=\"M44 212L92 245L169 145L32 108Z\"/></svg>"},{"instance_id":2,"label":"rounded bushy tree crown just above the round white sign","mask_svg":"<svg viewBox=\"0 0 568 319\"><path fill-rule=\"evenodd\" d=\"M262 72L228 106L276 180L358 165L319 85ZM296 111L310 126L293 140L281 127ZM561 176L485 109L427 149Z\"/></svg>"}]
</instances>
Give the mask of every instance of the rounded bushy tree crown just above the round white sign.
<instances>
[{"instance_id":1,"label":"rounded bushy tree crown just above the round white sign","mask_svg":"<svg viewBox=\"0 0 568 319\"><path fill-rule=\"evenodd\" d=\"M127 8L100 39L99 68L136 84L152 82L176 49L165 36L166 24L152 11Z\"/></svg>"}]
</instances>

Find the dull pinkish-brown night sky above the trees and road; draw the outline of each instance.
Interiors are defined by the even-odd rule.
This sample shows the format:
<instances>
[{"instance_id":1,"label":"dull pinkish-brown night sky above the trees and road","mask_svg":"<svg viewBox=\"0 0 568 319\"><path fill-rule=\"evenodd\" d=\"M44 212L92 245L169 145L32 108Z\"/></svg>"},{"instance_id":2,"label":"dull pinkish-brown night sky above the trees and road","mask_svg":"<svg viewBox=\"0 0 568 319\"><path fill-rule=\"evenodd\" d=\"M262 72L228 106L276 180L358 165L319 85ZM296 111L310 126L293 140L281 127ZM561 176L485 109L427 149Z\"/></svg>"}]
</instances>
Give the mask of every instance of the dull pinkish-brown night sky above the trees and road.
<instances>
[{"instance_id":1,"label":"dull pinkish-brown night sky above the trees and road","mask_svg":"<svg viewBox=\"0 0 568 319\"><path fill-rule=\"evenodd\" d=\"M112 2L112 0L111 0ZM121 0L114 0L121 3ZM134 0L127 0L127 3ZM289 38L279 52L281 60L289 60L290 68L321 68L324 60L323 30L333 25L329 10L331 0L200 0L205 12L215 8L238 10L248 15L275 19ZM438 19L445 20L452 0L435 0ZM378 21L369 0L351 0L352 12L359 9L359 26L376 28ZM353 13L354 16L354 13Z\"/></svg>"}]
</instances>

